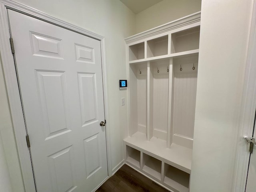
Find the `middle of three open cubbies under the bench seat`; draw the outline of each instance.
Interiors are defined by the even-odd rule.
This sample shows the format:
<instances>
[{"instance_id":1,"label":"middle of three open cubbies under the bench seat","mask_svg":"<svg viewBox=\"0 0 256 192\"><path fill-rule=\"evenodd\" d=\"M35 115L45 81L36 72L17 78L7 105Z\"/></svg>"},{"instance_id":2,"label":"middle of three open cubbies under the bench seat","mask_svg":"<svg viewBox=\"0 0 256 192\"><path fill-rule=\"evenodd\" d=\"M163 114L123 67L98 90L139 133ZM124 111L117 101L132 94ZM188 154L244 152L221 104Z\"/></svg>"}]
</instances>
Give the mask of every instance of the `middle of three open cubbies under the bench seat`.
<instances>
[{"instance_id":1,"label":"middle of three open cubbies under the bench seat","mask_svg":"<svg viewBox=\"0 0 256 192\"><path fill-rule=\"evenodd\" d=\"M143 153L142 170L157 180L161 180L162 162L152 156Z\"/></svg>"}]
</instances>

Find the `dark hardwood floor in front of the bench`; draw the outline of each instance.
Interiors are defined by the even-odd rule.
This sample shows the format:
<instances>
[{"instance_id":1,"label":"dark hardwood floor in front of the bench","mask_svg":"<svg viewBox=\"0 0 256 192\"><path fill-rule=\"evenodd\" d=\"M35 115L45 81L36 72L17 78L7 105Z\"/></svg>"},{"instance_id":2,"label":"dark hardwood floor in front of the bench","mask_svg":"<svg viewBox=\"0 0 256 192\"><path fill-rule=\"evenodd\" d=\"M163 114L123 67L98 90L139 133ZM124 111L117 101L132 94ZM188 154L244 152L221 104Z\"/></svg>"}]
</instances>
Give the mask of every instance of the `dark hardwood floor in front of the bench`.
<instances>
[{"instance_id":1,"label":"dark hardwood floor in front of the bench","mask_svg":"<svg viewBox=\"0 0 256 192\"><path fill-rule=\"evenodd\" d=\"M168 192L168 190L124 165L96 192Z\"/></svg>"}]
</instances>

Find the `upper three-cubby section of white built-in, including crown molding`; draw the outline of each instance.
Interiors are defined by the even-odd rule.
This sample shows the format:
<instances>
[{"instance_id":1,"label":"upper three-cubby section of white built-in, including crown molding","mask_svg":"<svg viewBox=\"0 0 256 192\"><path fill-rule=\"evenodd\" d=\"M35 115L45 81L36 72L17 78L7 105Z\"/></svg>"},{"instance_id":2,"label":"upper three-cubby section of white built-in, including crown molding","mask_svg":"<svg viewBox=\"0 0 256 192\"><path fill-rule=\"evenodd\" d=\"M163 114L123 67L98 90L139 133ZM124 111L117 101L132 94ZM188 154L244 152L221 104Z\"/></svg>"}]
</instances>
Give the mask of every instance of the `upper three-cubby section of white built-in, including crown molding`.
<instances>
[{"instance_id":1,"label":"upper three-cubby section of white built-in, including crown molding","mask_svg":"<svg viewBox=\"0 0 256 192\"><path fill-rule=\"evenodd\" d=\"M200 16L201 12L196 12L126 38L128 62L137 64L198 53Z\"/></svg>"}]
</instances>

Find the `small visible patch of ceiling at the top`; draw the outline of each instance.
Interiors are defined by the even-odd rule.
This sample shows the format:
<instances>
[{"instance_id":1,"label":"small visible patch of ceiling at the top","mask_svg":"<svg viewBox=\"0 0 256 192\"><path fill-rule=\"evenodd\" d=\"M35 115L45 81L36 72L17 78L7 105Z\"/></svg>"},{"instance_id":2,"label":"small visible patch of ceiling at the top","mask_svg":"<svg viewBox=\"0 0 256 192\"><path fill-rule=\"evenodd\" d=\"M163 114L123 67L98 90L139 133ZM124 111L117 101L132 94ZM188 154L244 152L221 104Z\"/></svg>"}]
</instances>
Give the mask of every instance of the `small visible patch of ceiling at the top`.
<instances>
[{"instance_id":1,"label":"small visible patch of ceiling at the top","mask_svg":"<svg viewBox=\"0 0 256 192\"><path fill-rule=\"evenodd\" d=\"M162 0L120 0L135 14L159 3Z\"/></svg>"}]
</instances>

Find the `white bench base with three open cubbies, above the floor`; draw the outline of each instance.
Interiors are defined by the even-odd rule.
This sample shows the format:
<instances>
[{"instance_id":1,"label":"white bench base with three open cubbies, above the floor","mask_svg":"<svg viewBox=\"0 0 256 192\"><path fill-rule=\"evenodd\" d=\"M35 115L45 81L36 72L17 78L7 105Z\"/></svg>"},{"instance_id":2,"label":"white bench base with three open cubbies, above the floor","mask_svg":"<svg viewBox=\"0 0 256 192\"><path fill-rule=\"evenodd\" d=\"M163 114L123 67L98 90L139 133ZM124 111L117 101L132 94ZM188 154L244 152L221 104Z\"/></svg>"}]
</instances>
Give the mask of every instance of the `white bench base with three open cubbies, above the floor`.
<instances>
[{"instance_id":1,"label":"white bench base with three open cubbies, above the floor","mask_svg":"<svg viewBox=\"0 0 256 192\"><path fill-rule=\"evenodd\" d=\"M135 137L138 141L138 135ZM160 147L161 143L154 142L154 145L161 148L156 152L153 151L154 146L150 145L152 140L147 141L144 138L145 142L137 143L133 142L133 139L130 137L124 140L126 164L172 192L189 192L192 153L191 156L183 156L181 152L184 147L173 146L164 149L164 146ZM190 153L190 150L183 152ZM168 155L164 156L162 153Z\"/></svg>"}]
</instances>

